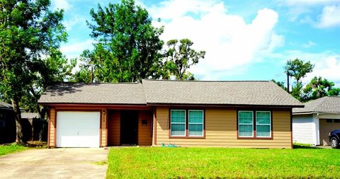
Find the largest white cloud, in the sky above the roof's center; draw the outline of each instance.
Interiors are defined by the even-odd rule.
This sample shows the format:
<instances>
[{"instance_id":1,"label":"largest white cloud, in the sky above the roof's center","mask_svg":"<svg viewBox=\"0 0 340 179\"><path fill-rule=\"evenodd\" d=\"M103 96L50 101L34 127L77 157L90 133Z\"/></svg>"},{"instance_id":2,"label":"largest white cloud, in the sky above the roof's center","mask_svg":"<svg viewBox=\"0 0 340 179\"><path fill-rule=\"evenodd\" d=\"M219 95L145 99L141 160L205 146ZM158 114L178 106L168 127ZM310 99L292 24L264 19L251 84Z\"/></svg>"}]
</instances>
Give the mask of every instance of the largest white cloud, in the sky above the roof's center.
<instances>
[{"instance_id":1,"label":"largest white cloud, in the sky above the roof's center","mask_svg":"<svg viewBox=\"0 0 340 179\"><path fill-rule=\"evenodd\" d=\"M251 23L227 13L219 1L171 0L148 8L153 18L165 20L162 39L189 38L196 50L206 55L191 71L203 79L220 79L237 74L283 45L284 37L274 32L278 13L268 8L258 11Z\"/></svg>"}]
</instances>

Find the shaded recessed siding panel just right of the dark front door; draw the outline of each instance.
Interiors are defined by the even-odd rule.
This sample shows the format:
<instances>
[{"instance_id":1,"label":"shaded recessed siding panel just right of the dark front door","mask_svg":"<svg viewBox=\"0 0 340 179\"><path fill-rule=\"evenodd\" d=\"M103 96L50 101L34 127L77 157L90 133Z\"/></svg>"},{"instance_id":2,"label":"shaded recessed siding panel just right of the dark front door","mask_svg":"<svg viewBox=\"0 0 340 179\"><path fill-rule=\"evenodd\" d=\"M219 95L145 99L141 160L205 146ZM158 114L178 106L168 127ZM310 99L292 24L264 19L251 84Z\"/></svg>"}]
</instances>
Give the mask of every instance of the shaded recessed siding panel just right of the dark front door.
<instances>
[{"instance_id":1,"label":"shaded recessed siding panel just right of the dark front door","mask_svg":"<svg viewBox=\"0 0 340 179\"><path fill-rule=\"evenodd\" d=\"M142 111L139 112L138 119L138 145L140 146L151 146L151 116L152 112ZM147 125L142 125L142 120L147 120Z\"/></svg>"}]
</instances>

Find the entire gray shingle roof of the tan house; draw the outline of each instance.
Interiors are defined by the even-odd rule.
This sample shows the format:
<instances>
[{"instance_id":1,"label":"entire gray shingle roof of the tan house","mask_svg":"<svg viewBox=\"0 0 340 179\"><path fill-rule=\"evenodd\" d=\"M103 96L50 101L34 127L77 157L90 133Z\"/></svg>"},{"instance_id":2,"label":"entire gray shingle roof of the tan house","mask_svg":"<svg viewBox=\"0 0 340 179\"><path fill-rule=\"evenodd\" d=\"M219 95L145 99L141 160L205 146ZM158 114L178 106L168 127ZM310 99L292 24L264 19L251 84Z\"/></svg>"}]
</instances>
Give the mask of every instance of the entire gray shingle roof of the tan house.
<instances>
[{"instance_id":1,"label":"entire gray shingle roof of the tan house","mask_svg":"<svg viewBox=\"0 0 340 179\"><path fill-rule=\"evenodd\" d=\"M168 81L57 83L39 103L130 105L275 105L302 103L271 81Z\"/></svg>"}]
</instances>

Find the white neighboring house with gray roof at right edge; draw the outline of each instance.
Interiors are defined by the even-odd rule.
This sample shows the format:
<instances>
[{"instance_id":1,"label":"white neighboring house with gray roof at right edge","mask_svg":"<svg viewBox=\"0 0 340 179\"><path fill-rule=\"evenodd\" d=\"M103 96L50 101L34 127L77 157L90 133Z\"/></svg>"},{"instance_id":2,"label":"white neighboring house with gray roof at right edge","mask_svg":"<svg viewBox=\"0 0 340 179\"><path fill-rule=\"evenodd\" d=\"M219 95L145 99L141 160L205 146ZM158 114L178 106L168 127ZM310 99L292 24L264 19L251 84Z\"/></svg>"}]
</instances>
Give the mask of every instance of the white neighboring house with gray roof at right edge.
<instances>
[{"instance_id":1,"label":"white neighboring house with gray roof at right edge","mask_svg":"<svg viewBox=\"0 0 340 179\"><path fill-rule=\"evenodd\" d=\"M329 145L328 134L340 129L340 97L327 96L293 109L293 142Z\"/></svg>"}]
</instances>

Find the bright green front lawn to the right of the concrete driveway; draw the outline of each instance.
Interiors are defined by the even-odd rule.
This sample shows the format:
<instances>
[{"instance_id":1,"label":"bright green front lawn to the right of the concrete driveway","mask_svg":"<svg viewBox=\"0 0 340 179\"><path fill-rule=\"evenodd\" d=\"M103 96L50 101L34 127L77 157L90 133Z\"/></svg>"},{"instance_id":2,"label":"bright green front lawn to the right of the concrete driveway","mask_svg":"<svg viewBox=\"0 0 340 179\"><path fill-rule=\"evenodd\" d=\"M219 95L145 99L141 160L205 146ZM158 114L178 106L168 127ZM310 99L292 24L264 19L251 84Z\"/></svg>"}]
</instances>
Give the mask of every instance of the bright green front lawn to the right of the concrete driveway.
<instances>
[{"instance_id":1,"label":"bright green front lawn to the right of the concrete driveway","mask_svg":"<svg viewBox=\"0 0 340 179\"><path fill-rule=\"evenodd\" d=\"M111 148L107 178L340 178L337 149Z\"/></svg>"}]
</instances>

